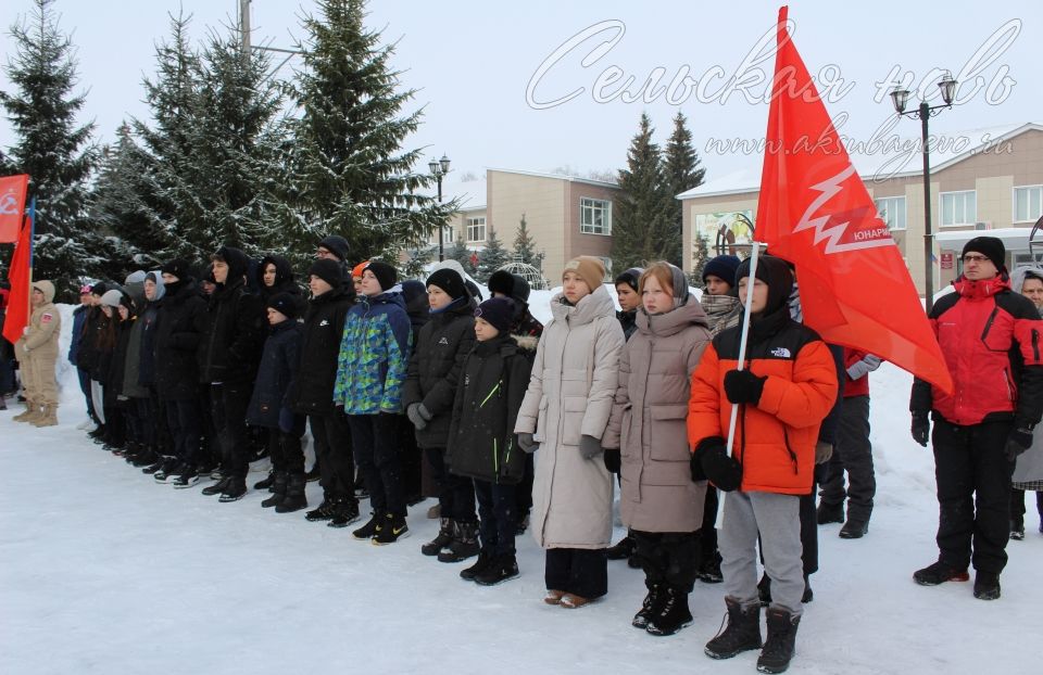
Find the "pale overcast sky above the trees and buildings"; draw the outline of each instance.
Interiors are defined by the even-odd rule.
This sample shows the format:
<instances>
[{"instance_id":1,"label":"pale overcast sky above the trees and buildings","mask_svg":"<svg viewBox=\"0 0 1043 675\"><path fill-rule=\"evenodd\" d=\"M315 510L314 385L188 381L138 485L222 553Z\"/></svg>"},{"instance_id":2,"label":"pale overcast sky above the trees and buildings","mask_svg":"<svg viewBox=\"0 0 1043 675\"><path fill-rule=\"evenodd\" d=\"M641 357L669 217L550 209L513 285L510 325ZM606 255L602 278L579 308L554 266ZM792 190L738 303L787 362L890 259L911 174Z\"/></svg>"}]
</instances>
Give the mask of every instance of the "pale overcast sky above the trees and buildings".
<instances>
[{"instance_id":1,"label":"pale overcast sky above the trees and buildings","mask_svg":"<svg viewBox=\"0 0 1043 675\"><path fill-rule=\"evenodd\" d=\"M180 2L193 16L197 40L235 21L238 5L238 0ZM33 9L29 0L8 0L4 7L9 25ZM155 43L167 36L167 13L178 7L171 0L55 3L60 27L77 48L80 87L87 91L84 119L95 122L102 142L113 138L121 120L148 115L141 79L153 73ZM759 166L755 157L721 154L707 144L764 136L765 82L774 55L756 63L756 50L772 30L778 8L764 1L384 1L372 3L367 23L397 42L392 63L403 71L402 85L417 90L410 110L424 107L413 145L426 147L428 155L447 153L456 177L486 167L615 170L626 162L642 111L665 141L680 110L713 179ZM294 36L303 35L298 17L313 11L310 0L253 0L254 43L291 47ZM935 95L935 68L951 69L965 84L960 104L935 117L932 131L1043 120L1038 0L800 0L790 4L790 18L808 71L833 82L827 105L834 119L846 116L841 131L847 138L868 141L888 128L893 109L887 84L896 75L915 86L926 79ZM12 48L4 30L3 63ZM744 61L755 63L743 67ZM280 75L289 76L292 64ZM645 85L657 73L657 87ZM614 75L621 78L612 84ZM698 84L684 86L686 75ZM633 82L625 87L630 77ZM671 89L671 82L679 86ZM10 90L5 75L0 87ZM624 100L620 91L632 95ZM916 137L919 126L903 120L895 131ZM10 124L0 119L0 145L12 140Z\"/></svg>"}]
</instances>

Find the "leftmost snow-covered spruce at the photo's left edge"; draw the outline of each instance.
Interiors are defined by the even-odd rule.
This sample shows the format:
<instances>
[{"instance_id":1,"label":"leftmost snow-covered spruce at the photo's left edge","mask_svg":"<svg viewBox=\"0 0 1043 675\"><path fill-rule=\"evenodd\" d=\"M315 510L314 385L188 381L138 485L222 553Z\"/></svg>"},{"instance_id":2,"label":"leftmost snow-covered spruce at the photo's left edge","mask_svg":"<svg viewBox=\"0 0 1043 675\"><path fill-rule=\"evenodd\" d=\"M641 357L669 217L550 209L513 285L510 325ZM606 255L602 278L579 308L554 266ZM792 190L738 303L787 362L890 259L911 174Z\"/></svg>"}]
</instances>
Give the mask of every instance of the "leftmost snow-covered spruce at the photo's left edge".
<instances>
[{"instance_id":1,"label":"leftmost snow-covered spruce at the photo's left edge","mask_svg":"<svg viewBox=\"0 0 1043 675\"><path fill-rule=\"evenodd\" d=\"M84 106L70 38L59 30L53 0L35 0L30 17L11 27L14 54L5 72L14 92L0 92L15 143L10 170L28 174L36 198L34 276L73 296L75 278L97 275L104 263L100 237L87 219L87 181L97 162L92 124L77 125Z\"/></svg>"}]
</instances>

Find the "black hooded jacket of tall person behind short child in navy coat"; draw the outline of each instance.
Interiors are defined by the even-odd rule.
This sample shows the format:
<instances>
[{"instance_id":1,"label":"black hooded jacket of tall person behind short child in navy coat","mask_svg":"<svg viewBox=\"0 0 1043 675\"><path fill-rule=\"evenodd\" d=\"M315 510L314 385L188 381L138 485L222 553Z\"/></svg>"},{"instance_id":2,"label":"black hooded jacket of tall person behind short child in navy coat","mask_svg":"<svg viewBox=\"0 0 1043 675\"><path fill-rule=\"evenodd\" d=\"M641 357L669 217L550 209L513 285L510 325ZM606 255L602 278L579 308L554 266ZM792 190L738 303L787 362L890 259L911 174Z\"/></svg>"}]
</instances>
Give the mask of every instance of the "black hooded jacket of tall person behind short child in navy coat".
<instances>
[{"instance_id":1,"label":"black hooded jacket of tall person behind short child in navy coat","mask_svg":"<svg viewBox=\"0 0 1043 675\"><path fill-rule=\"evenodd\" d=\"M257 374L266 336L264 303L247 292L247 256L229 246L217 253L228 264L228 277L214 291L206 308L206 333L199 345L200 381L251 382Z\"/></svg>"}]
</instances>

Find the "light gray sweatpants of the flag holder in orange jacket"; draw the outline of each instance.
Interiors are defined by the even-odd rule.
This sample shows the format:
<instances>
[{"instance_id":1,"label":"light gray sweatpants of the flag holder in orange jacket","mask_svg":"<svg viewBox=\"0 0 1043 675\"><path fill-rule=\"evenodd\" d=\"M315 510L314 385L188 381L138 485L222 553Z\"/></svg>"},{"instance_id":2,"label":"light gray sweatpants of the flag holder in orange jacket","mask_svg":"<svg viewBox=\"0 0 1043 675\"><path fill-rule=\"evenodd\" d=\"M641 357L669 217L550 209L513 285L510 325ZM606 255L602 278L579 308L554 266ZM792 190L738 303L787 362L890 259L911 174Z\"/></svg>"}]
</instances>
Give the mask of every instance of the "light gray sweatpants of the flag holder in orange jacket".
<instances>
[{"instance_id":1,"label":"light gray sweatpants of the flag holder in orange jacket","mask_svg":"<svg viewBox=\"0 0 1043 675\"><path fill-rule=\"evenodd\" d=\"M794 616L803 611L800 497L772 493L725 494L718 534L725 593L741 604L757 602L757 534L764 570L771 578L771 607Z\"/></svg>"}]
</instances>

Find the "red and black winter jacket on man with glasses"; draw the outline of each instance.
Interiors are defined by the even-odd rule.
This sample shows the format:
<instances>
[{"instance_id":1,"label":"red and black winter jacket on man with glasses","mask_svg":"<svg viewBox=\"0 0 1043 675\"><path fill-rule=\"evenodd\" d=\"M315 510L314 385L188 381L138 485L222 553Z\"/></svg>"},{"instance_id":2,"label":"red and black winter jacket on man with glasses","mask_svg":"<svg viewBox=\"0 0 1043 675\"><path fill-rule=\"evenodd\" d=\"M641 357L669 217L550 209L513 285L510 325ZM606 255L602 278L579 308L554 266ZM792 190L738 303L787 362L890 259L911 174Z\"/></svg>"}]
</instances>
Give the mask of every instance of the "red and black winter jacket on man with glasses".
<instances>
[{"instance_id":1,"label":"red and black winter jacket on man with glasses","mask_svg":"<svg viewBox=\"0 0 1043 675\"><path fill-rule=\"evenodd\" d=\"M934 304L930 320L955 389L950 395L916 380L909 409L959 425L1035 424L1043 409L1039 311L1010 290L1006 272L980 281L960 277L953 285L956 292Z\"/></svg>"}]
</instances>

